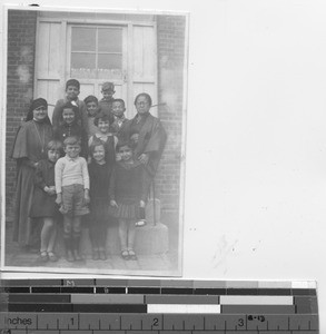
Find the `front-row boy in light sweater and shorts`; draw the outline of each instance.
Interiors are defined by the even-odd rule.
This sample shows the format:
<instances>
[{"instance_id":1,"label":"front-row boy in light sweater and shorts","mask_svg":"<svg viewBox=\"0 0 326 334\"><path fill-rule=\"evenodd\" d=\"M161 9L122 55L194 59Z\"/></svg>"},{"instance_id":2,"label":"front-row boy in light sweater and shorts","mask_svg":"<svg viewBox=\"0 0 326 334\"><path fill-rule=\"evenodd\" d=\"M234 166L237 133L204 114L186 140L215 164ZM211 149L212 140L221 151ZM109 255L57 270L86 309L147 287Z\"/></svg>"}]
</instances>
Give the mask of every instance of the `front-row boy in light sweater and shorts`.
<instances>
[{"instance_id":1,"label":"front-row boy in light sweater and shorts","mask_svg":"<svg viewBox=\"0 0 326 334\"><path fill-rule=\"evenodd\" d=\"M80 141L68 137L63 141L66 156L56 164L56 203L63 215L63 239L67 261L80 261L81 216L89 209L89 175L86 159L79 156Z\"/></svg>"}]
</instances>

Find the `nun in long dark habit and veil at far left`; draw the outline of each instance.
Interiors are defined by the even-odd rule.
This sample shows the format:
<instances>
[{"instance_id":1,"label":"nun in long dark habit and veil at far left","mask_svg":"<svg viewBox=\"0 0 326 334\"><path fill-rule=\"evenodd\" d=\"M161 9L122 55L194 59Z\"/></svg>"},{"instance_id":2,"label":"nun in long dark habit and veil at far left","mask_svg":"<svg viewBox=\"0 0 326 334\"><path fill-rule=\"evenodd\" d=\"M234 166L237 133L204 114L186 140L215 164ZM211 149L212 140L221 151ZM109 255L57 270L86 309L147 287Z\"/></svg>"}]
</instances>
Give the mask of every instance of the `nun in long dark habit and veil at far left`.
<instances>
[{"instance_id":1,"label":"nun in long dark habit and veil at far left","mask_svg":"<svg viewBox=\"0 0 326 334\"><path fill-rule=\"evenodd\" d=\"M13 240L31 245L32 224L29 218L38 161L47 158L47 145L52 139L48 102L38 98L31 102L26 121L17 131L11 157L17 161L17 185L13 216Z\"/></svg>"}]
</instances>

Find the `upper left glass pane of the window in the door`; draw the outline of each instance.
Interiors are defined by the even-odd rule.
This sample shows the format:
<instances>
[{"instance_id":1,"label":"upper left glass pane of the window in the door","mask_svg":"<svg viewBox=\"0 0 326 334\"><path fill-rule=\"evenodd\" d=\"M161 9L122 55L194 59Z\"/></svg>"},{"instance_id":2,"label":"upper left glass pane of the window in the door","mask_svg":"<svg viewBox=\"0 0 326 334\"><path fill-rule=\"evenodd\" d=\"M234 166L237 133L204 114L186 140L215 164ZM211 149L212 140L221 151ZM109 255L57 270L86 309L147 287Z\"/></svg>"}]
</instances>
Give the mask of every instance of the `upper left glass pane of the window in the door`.
<instances>
[{"instance_id":1,"label":"upper left glass pane of the window in the door","mask_svg":"<svg viewBox=\"0 0 326 334\"><path fill-rule=\"evenodd\" d=\"M71 50L72 51L95 51L96 29L93 28L72 28Z\"/></svg>"}]
</instances>

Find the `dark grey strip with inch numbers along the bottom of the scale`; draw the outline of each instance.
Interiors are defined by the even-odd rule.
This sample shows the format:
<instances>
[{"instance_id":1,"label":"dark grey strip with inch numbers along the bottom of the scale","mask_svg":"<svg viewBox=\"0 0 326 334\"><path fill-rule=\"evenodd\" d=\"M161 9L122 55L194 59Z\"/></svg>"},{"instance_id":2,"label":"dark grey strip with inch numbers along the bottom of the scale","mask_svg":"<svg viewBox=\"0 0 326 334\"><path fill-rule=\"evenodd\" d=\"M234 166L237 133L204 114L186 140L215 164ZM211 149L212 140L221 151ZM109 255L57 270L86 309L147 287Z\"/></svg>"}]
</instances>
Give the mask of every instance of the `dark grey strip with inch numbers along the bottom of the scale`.
<instances>
[{"instance_id":1,"label":"dark grey strip with inch numbers along the bottom of the scale","mask_svg":"<svg viewBox=\"0 0 326 334\"><path fill-rule=\"evenodd\" d=\"M184 322L186 326L196 327L197 330L214 331L224 330L225 322L228 328L235 326L243 327L247 323L247 327L267 326L270 330L313 330L318 327L317 315L281 315L281 314L101 314L101 313L0 313L1 324L7 328L17 330L56 330L57 322L61 328L70 326L71 330L83 330L89 325L101 324L99 330L124 330L124 327L134 324L135 328L141 330L140 321L142 321L144 330L150 330L157 326L158 330L182 330ZM79 321L78 321L79 318ZM205 320L205 322L204 322ZM121 322L121 325L120 325Z\"/></svg>"}]
</instances>

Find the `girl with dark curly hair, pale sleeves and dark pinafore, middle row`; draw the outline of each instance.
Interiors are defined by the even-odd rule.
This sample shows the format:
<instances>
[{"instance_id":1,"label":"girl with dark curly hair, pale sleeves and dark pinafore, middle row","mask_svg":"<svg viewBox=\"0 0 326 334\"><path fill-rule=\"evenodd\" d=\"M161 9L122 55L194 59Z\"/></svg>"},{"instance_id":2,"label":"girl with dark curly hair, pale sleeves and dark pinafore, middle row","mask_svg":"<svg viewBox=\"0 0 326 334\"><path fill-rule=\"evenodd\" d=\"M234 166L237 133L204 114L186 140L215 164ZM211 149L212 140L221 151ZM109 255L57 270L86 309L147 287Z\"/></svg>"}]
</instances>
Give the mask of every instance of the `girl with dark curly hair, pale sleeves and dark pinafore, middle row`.
<instances>
[{"instance_id":1,"label":"girl with dark curly hair, pale sleeves and dark pinafore, middle row","mask_svg":"<svg viewBox=\"0 0 326 334\"><path fill-rule=\"evenodd\" d=\"M97 132L88 140L88 146L91 146L93 141L102 141L106 148L106 161L112 166L116 161L116 146L118 139L110 132L110 125L113 121L113 116L100 111L95 117L95 125L97 126Z\"/></svg>"}]
</instances>

